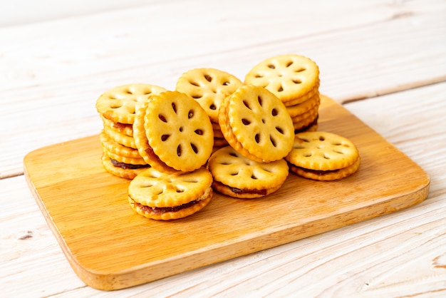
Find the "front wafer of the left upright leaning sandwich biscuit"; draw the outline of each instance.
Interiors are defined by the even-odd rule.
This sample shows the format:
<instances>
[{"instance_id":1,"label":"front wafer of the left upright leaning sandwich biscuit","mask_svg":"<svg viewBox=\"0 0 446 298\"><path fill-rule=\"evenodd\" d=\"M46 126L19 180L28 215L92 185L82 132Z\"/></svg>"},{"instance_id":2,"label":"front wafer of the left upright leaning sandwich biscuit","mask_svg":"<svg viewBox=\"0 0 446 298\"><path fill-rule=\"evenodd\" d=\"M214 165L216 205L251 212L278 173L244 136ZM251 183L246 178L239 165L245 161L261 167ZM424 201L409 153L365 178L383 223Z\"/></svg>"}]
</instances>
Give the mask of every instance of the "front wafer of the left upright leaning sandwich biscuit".
<instances>
[{"instance_id":1,"label":"front wafer of the left upright leaning sandwich biscuit","mask_svg":"<svg viewBox=\"0 0 446 298\"><path fill-rule=\"evenodd\" d=\"M152 96L147 102L143 124L149 147L168 167L190 172L207 163L214 146L212 124L207 113L190 96L178 91Z\"/></svg>"}]
</instances>

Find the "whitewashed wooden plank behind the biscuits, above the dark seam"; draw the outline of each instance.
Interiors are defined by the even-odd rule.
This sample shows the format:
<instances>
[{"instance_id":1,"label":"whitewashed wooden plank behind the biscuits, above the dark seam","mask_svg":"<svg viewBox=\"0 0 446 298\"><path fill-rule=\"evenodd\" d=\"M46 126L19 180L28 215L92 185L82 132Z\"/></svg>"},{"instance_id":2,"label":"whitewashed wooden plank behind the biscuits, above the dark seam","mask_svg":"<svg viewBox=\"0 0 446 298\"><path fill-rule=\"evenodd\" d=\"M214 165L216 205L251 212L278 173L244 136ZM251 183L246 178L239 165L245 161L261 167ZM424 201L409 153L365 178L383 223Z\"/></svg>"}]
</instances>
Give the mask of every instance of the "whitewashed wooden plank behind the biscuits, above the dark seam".
<instances>
[{"instance_id":1,"label":"whitewashed wooden plank behind the biscuits, above the dark seam","mask_svg":"<svg viewBox=\"0 0 446 298\"><path fill-rule=\"evenodd\" d=\"M108 88L172 89L195 67L243 78L264 58L300 53L318 63L321 91L338 102L445 81L446 3L428 2L279 1L270 9L232 0L216 10L203 0L162 1L0 29L0 121L14 127L0 130L0 178L21 175L31 150L99 133L94 103ZM187 6L199 9L184 14Z\"/></svg>"}]
</instances>

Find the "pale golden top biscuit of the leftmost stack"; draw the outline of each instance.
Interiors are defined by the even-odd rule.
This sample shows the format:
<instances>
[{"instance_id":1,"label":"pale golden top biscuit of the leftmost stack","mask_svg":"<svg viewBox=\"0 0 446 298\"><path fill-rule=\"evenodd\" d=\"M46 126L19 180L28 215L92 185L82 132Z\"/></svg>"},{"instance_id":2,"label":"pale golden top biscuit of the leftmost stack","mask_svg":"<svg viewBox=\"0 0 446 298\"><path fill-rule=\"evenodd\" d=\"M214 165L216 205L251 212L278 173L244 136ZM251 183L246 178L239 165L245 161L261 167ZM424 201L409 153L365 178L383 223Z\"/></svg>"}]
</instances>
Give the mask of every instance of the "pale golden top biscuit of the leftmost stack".
<instances>
[{"instance_id":1,"label":"pale golden top biscuit of the leftmost stack","mask_svg":"<svg viewBox=\"0 0 446 298\"><path fill-rule=\"evenodd\" d=\"M115 123L133 124L135 108L165 88L150 84L128 84L105 91L96 100L96 110Z\"/></svg>"}]
</instances>

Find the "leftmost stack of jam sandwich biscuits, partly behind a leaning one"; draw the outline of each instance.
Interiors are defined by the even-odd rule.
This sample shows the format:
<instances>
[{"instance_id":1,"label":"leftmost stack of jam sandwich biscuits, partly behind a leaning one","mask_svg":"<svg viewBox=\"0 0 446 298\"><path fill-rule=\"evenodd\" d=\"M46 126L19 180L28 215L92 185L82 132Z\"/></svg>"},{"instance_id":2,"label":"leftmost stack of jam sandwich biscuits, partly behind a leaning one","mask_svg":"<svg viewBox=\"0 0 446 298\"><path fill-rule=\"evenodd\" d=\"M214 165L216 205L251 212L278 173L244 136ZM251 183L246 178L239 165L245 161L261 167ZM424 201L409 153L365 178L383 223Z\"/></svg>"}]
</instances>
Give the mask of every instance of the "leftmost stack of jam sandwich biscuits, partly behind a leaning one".
<instances>
[{"instance_id":1,"label":"leftmost stack of jam sandwich biscuits, partly behind a leaning one","mask_svg":"<svg viewBox=\"0 0 446 298\"><path fill-rule=\"evenodd\" d=\"M149 165L140 155L133 138L135 108L165 88L150 84L128 84L105 91L96 101L103 120L100 143L105 170L121 178L133 179Z\"/></svg>"}]
</instances>

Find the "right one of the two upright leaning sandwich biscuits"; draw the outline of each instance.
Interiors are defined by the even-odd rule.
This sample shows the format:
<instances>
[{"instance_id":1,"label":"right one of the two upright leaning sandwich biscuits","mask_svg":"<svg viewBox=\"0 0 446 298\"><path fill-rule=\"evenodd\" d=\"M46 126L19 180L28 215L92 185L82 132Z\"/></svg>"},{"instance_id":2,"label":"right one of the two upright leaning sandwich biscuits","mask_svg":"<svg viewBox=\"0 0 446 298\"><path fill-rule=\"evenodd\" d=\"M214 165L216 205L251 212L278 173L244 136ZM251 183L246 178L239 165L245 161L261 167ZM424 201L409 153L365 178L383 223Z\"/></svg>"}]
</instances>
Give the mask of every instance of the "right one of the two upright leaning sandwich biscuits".
<instances>
[{"instance_id":1,"label":"right one of the two upright leaning sandwich biscuits","mask_svg":"<svg viewBox=\"0 0 446 298\"><path fill-rule=\"evenodd\" d=\"M265 88L242 86L225 98L219 124L229 145L259 163L280 160L293 146L291 117L279 98Z\"/></svg>"}]
</instances>

